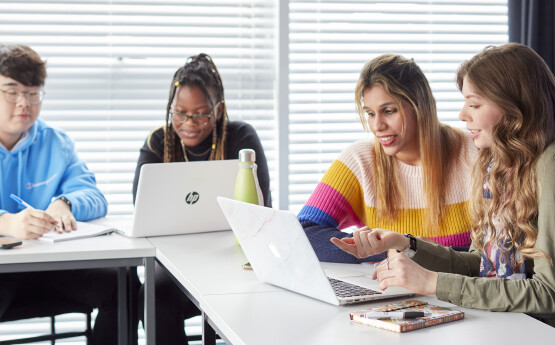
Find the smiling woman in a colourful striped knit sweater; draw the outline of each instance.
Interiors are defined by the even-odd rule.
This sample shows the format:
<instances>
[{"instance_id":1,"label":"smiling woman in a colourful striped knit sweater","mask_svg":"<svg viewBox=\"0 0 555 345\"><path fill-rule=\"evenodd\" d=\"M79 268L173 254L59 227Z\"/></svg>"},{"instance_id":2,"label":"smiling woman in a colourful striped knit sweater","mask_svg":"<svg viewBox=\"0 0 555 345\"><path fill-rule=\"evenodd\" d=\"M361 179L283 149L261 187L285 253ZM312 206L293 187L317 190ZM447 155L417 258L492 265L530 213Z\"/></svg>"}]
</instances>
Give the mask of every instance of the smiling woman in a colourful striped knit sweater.
<instances>
[{"instance_id":1,"label":"smiling woman in a colourful striped knit sweater","mask_svg":"<svg viewBox=\"0 0 555 345\"><path fill-rule=\"evenodd\" d=\"M385 257L357 259L333 245L332 237L352 236L341 231L348 227L385 228L468 248L476 149L461 130L439 122L418 65L393 54L371 60L360 74L355 103L373 139L347 147L298 214L319 259Z\"/></svg>"}]
</instances>

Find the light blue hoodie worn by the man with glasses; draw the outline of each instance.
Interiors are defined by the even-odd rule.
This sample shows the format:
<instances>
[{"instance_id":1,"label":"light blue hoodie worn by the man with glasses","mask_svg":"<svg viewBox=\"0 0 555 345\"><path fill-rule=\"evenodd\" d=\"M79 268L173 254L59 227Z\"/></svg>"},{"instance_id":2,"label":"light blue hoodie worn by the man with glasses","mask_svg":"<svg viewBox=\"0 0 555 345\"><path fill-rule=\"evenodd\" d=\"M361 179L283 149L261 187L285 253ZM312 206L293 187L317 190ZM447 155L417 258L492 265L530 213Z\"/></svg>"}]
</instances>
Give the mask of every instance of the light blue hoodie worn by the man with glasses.
<instances>
[{"instance_id":1,"label":"light blue hoodie worn by the man with glasses","mask_svg":"<svg viewBox=\"0 0 555 345\"><path fill-rule=\"evenodd\" d=\"M94 174L77 157L73 140L41 119L11 152L0 147L0 181L0 215L23 210L11 193L41 210L64 196L79 221L103 217L108 208Z\"/></svg>"}]
</instances>

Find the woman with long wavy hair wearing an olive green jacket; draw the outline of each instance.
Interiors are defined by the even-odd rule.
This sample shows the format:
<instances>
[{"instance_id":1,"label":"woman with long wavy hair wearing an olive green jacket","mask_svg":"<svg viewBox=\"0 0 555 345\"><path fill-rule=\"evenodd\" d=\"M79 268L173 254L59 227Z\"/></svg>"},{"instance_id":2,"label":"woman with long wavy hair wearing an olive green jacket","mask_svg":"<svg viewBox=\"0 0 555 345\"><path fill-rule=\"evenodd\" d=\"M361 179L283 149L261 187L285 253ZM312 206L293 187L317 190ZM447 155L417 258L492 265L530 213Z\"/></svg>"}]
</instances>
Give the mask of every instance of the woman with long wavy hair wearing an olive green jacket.
<instances>
[{"instance_id":1,"label":"woman with long wavy hair wearing an olive green jacket","mask_svg":"<svg viewBox=\"0 0 555 345\"><path fill-rule=\"evenodd\" d=\"M555 80L530 48L488 47L462 64L459 118L479 149L469 252L363 229L332 239L376 266L380 287L402 286L469 308L532 313L555 326ZM391 253L391 252L390 252Z\"/></svg>"}]
</instances>

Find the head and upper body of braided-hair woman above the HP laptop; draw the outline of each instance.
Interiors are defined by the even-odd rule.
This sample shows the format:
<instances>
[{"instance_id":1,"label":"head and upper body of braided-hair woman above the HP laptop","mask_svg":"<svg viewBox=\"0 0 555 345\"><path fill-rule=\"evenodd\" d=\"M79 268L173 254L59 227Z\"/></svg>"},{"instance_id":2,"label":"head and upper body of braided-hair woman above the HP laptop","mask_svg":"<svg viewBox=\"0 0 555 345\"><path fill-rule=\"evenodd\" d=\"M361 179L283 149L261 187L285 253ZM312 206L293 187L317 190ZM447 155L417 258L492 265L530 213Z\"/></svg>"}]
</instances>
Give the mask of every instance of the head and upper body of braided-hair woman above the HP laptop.
<instances>
[{"instance_id":1,"label":"head and upper body of braided-hair woman above the HP laptop","mask_svg":"<svg viewBox=\"0 0 555 345\"><path fill-rule=\"evenodd\" d=\"M244 148L256 152L264 205L271 206L268 164L258 135L245 122L228 120L222 79L210 56L191 56L173 76L166 124L154 129L141 148L133 201L143 164L236 159Z\"/></svg>"}]
</instances>

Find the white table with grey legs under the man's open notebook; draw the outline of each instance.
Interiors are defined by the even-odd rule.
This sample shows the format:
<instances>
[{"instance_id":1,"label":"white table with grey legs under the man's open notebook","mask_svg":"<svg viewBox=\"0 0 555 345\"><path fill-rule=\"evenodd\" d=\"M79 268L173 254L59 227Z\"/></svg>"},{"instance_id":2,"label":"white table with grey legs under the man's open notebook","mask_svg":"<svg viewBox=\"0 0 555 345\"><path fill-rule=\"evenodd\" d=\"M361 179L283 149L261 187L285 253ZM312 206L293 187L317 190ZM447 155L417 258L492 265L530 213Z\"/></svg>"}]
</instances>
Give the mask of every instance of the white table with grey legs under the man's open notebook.
<instances>
[{"instance_id":1,"label":"white table with grey legs under the man's open notebook","mask_svg":"<svg viewBox=\"0 0 555 345\"><path fill-rule=\"evenodd\" d=\"M145 266L145 333L154 344L154 256L155 248L144 238L110 234L48 243L26 240L23 245L0 250L0 273L36 272L83 268L118 268L119 344L129 343L127 312L127 267Z\"/></svg>"}]
</instances>

